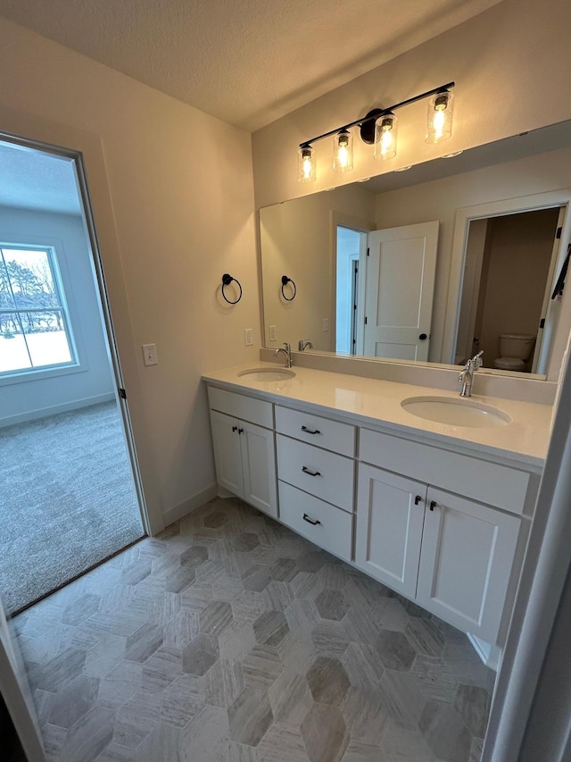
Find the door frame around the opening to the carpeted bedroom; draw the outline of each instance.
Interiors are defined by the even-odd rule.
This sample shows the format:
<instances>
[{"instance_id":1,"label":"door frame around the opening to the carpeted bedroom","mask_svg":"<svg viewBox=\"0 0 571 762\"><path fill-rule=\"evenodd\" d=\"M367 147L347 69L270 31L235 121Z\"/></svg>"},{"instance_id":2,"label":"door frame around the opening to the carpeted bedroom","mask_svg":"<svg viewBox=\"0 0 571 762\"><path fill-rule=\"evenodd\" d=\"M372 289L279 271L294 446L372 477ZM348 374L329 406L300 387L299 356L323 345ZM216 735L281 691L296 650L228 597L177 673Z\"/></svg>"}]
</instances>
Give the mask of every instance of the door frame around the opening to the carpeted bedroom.
<instances>
[{"instance_id":1,"label":"door frame around the opening to the carpeted bedroom","mask_svg":"<svg viewBox=\"0 0 571 762\"><path fill-rule=\"evenodd\" d=\"M136 353L128 312L127 289L120 262L120 245L115 230L102 141L91 133L2 105L0 139L75 160L87 239L96 273L95 286L103 313L103 330L110 348L112 373L116 389L126 389L128 396L127 400L118 395L118 401L141 518L145 532L157 534L164 529L164 519L145 423L143 389L138 369L140 358Z\"/></svg>"}]
</instances>

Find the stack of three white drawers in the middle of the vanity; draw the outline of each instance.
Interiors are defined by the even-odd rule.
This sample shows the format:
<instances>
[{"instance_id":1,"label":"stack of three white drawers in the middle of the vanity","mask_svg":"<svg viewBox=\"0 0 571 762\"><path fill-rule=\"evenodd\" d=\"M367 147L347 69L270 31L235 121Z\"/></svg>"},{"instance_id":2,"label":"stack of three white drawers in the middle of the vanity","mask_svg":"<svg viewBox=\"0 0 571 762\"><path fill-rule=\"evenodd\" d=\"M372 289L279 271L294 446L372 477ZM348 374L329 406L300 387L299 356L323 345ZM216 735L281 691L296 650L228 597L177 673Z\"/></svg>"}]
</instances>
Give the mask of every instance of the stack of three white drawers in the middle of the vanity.
<instances>
[{"instance_id":1,"label":"stack of three white drawers in the middle of the vanity","mask_svg":"<svg viewBox=\"0 0 571 762\"><path fill-rule=\"evenodd\" d=\"M351 561L355 427L276 406L276 431L280 520Z\"/></svg>"}]
</instances>

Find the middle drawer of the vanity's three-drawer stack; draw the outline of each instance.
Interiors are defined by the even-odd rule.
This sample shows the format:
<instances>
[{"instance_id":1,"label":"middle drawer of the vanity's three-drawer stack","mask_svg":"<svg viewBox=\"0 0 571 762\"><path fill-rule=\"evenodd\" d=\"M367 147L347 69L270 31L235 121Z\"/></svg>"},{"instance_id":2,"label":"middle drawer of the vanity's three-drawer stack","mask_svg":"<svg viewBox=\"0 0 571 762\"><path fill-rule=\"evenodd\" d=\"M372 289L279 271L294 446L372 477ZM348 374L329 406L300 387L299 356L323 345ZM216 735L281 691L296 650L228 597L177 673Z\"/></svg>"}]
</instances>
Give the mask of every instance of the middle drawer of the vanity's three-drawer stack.
<instances>
[{"instance_id":1,"label":"middle drawer of the vanity's three-drawer stack","mask_svg":"<svg viewBox=\"0 0 571 762\"><path fill-rule=\"evenodd\" d=\"M352 511L354 461L281 434L276 441L278 479Z\"/></svg>"}]
</instances>

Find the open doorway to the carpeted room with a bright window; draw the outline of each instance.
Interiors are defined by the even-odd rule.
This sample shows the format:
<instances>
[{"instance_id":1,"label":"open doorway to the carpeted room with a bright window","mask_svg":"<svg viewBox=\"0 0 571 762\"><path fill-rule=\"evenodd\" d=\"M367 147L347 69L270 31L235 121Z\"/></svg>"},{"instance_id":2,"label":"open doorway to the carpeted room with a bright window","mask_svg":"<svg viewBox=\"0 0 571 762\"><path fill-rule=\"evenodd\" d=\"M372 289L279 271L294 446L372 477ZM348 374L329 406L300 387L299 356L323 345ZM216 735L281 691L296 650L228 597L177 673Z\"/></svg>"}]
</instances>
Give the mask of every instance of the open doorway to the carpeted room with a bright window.
<instances>
[{"instance_id":1,"label":"open doorway to the carpeted room with a bright window","mask_svg":"<svg viewBox=\"0 0 571 762\"><path fill-rule=\"evenodd\" d=\"M146 533L80 155L0 141L0 595L14 614Z\"/></svg>"}]
</instances>

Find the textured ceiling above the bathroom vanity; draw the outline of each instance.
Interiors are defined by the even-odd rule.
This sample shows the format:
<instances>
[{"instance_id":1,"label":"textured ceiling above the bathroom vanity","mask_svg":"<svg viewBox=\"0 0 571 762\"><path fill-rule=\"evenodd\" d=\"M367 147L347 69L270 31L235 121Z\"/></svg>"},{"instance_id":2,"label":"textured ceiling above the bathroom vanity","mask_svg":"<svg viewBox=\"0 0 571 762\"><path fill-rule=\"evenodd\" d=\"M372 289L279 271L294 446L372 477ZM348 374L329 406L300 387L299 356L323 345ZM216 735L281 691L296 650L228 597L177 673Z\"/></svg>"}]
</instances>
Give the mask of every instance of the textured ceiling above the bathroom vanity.
<instances>
[{"instance_id":1,"label":"textured ceiling above the bathroom vanity","mask_svg":"<svg viewBox=\"0 0 571 762\"><path fill-rule=\"evenodd\" d=\"M501 0L1 0L7 19L257 130Z\"/></svg>"}]
</instances>

